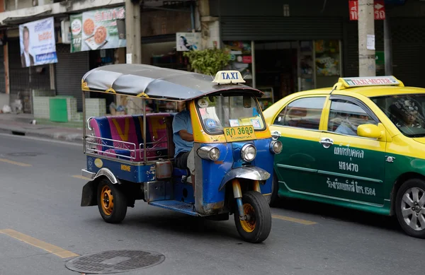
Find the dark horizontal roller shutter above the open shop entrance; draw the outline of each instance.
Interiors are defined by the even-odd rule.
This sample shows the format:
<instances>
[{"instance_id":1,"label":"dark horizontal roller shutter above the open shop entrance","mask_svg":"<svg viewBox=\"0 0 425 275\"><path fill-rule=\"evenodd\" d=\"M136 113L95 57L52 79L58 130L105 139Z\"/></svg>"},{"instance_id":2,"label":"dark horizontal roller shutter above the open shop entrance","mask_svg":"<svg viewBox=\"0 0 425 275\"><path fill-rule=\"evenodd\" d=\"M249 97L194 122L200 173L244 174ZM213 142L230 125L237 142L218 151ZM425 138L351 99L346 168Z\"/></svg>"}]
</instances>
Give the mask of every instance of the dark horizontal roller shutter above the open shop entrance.
<instances>
[{"instance_id":1,"label":"dark horizontal roller shutter above the open shop entrance","mask_svg":"<svg viewBox=\"0 0 425 275\"><path fill-rule=\"evenodd\" d=\"M342 39L342 18L221 16L222 40Z\"/></svg>"}]
</instances>

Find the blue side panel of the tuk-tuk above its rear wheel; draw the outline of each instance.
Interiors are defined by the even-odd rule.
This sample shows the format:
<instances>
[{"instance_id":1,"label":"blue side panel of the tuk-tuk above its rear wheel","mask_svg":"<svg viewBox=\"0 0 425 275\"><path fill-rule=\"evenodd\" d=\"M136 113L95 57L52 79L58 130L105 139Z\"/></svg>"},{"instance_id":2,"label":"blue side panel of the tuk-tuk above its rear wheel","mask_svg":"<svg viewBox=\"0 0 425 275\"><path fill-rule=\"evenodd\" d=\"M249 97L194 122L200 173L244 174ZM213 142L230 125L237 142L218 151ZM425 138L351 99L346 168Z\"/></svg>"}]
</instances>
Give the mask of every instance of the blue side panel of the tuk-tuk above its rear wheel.
<instances>
[{"instance_id":1,"label":"blue side panel of the tuk-tuk above its rear wheel","mask_svg":"<svg viewBox=\"0 0 425 275\"><path fill-rule=\"evenodd\" d=\"M96 158L102 161L100 167L96 166ZM98 172L101 168L108 168L116 178L130 182L151 182L155 180L155 165L132 165L123 163L119 159L111 160L102 156L87 156L87 170Z\"/></svg>"}]
</instances>

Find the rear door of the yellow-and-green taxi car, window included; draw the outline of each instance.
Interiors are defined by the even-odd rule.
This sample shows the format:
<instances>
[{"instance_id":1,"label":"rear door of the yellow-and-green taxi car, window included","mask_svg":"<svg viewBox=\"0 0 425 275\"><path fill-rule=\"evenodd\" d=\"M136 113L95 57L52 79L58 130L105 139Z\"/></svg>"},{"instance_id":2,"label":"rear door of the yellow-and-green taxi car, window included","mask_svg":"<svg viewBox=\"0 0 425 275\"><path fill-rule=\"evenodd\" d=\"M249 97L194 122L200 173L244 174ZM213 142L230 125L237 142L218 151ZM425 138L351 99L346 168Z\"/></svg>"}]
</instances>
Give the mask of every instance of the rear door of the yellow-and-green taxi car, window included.
<instances>
[{"instance_id":1,"label":"rear door of the yellow-and-green taxi car, window included","mask_svg":"<svg viewBox=\"0 0 425 275\"><path fill-rule=\"evenodd\" d=\"M319 124L327 95L295 98L278 112L270 130L280 132L282 153L275 156L275 171L280 189L314 192L317 182Z\"/></svg>"}]
</instances>

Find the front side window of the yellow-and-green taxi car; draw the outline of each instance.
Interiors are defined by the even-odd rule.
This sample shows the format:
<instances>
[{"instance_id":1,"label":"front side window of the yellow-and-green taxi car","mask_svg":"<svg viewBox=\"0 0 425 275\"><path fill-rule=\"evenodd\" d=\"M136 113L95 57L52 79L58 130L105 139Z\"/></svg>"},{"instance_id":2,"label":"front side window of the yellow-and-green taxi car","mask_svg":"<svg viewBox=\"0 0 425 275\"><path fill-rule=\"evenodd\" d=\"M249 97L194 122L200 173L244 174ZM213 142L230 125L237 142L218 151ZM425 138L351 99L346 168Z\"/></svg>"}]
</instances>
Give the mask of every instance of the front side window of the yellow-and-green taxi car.
<instances>
[{"instance_id":1,"label":"front side window of the yellow-and-green taxi car","mask_svg":"<svg viewBox=\"0 0 425 275\"><path fill-rule=\"evenodd\" d=\"M329 110L328 131L357 136L361 124L378 124L363 107L348 100L332 100Z\"/></svg>"}]
</instances>

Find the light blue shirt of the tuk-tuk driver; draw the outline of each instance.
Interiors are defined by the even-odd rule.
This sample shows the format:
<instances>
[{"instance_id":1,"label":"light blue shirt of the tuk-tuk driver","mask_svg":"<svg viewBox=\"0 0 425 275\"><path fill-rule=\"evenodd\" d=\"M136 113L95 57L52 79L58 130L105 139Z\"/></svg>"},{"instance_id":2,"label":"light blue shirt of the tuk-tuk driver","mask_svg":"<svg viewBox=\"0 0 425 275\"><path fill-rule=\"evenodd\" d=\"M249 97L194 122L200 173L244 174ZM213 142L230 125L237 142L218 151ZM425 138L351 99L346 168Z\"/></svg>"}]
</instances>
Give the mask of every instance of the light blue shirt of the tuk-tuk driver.
<instances>
[{"instance_id":1,"label":"light blue shirt of the tuk-tuk driver","mask_svg":"<svg viewBox=\"0 0 425 275\"><path fill-rule=\"evenodd\" d=\"M193 141L185 141L179 135L180 130L186 130L189 134L193 134L191 112L183 110L179 112L173 119L173 141L176 145L174 158L181 152L191 151L193 148Z\"/></svg>"}]
</instances>

